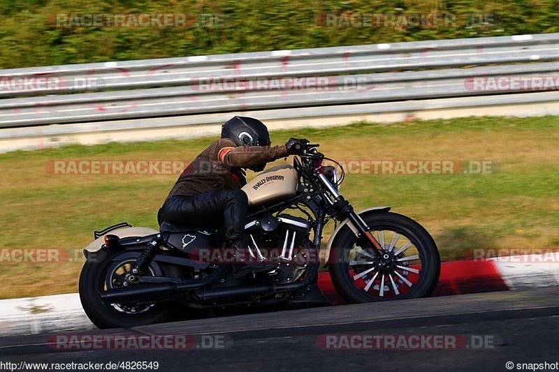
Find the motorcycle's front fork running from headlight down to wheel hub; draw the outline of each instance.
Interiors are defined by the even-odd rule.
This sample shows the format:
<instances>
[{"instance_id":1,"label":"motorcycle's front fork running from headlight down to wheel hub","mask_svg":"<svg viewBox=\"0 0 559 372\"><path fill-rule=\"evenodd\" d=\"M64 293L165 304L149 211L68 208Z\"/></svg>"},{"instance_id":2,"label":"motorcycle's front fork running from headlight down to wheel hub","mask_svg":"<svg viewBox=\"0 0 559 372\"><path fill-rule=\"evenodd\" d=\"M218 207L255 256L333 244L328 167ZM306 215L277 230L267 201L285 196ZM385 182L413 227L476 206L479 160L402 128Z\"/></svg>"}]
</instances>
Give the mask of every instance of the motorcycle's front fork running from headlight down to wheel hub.
<instances>
[{"instance_id":1,"label":"motorcycle's front fork running from headlight down to wheel hub","mask_svg":"<svg viewBox=\"0 0 559 372\"><path fill-rule=\"evenodd\" d=\"M375 239L375 237L371 234L370 228L368 225L363 221L358 214L355 213L354 207L351 207L351 204L347 200L344 199L340 193L332 186L330 181L326 178L326 176L322 173L319 174L319 179L322 183L328 188L329 193L331 194L332 198L327 199L328 202L331 204L331 207L335 210L335 214L339 221L344 221L344 219L349 218L349 221L355 226L357 230L357 237L367 246L372 248L372 251L375 252L377 258L381 259L383 255L384 249L379 244L379 241Z\"/></svg>"}]
</instances>

